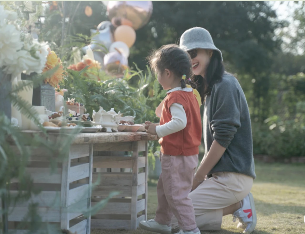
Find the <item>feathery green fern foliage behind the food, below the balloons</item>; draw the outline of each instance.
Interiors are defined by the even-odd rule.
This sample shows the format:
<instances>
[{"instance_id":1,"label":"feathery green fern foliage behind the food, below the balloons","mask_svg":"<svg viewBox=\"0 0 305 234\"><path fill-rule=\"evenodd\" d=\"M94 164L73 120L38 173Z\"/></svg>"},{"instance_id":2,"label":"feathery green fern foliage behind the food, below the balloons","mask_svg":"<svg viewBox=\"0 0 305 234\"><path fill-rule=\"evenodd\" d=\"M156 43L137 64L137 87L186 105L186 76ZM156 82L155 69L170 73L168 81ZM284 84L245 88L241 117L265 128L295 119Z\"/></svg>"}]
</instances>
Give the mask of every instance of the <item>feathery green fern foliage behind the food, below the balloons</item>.
<instances>
[{"instance_id":1,"label":"feathery green fern foliage behind the food, below the balloons","mask_svg":"<svg viewBox=\"0 0 305 234\"><path fill-rule=\"evenodd\" d=\"M87 113L98 111L99 107L105 110L114 108L116 112L121 112L124 116L136 116L136 123L144 123L146 120L159 122L155 114L155 108L165 97L165 92L160 90L160 85L153 80L153 76L148 69L145 74L135 65L136 71L126 70L123 79L110 79L102 82L85 76L85 70L73 71L67 69L68 76L61 87L68 91L65 98L76 98L80 103L84 103ZM102 80L105 77L101 77ZM136 87L130 85L131 80L136 80ZM135 82L135 81L134 81ZM154 84L155 95L146 98L147 90Z\"/></svg>"}]
</instances>

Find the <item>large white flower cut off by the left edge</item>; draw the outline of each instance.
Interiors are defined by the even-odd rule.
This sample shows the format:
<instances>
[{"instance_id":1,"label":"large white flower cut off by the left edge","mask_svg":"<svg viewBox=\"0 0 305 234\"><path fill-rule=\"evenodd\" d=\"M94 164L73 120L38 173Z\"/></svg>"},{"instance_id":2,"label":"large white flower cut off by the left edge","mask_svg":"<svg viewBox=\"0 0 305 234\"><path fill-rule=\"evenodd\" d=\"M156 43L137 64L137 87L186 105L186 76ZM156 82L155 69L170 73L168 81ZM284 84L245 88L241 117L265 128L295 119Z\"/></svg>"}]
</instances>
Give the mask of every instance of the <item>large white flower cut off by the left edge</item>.
<instances>
[{"instance_id":1,"label":"large white flower cut off by the left edge","mask_svg":"<svg viewBox=\"0 0 305 234\"><path fill-rule=\"evenodd\" d=\"M12 24L4 24L0 27L0 67L17 59L16 51L23 46L20 41L20 31Z\"/></svg>"}]
</instances>

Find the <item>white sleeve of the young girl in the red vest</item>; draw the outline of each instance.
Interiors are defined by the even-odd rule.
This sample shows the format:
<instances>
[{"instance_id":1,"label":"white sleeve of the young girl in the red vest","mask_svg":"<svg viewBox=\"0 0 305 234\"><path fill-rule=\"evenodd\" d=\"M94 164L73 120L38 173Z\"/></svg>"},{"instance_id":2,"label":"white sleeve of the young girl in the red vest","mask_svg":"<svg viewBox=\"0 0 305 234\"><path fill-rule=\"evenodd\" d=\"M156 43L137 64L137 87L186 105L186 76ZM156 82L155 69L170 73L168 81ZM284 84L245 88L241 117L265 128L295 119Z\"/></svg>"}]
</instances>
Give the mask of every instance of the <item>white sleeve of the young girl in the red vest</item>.
<instances>
[{"instance_id":1,"label":"white sleeve of the young girl in the red vest","mask_svg":"<svg viewBox=\"0 0 305 234\"><path fill-rule=\"evenodd\" d=\"M172 115L170 122L156 126L158 137L165 137L185 128L187 119L183 106L179 103L173 103L170 105L170 113Z\"/></svg>"}]
</instances>

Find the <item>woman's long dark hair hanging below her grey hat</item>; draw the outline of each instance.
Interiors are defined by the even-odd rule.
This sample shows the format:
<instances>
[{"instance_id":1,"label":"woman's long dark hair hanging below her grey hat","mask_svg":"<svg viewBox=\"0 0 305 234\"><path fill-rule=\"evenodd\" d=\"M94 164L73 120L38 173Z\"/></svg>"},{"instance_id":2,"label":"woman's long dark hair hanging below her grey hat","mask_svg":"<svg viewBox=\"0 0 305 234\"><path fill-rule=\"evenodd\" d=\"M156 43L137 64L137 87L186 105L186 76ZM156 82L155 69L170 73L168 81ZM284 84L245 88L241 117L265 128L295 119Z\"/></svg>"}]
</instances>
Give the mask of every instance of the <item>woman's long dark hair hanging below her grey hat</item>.
<instances>
[{"instance_id":1,"label":"woman's long dark hair hanging below her grey hat","mask_svg":"<svg viewBox=\"0 0 305 234\"><path fill-rule=\"evenodd\" d=\"M195 76L194 80L197 83L197 90L201 97L201 102L203 103L206 95L210 95L212 92L213 85L218 83L222 79L224 74L224 65L221 62L221 56L217 51L213 51L213 55L210 59L210 63L206 69L206 75L204 78L202 76Z\"/></svg>"}]
</instances>

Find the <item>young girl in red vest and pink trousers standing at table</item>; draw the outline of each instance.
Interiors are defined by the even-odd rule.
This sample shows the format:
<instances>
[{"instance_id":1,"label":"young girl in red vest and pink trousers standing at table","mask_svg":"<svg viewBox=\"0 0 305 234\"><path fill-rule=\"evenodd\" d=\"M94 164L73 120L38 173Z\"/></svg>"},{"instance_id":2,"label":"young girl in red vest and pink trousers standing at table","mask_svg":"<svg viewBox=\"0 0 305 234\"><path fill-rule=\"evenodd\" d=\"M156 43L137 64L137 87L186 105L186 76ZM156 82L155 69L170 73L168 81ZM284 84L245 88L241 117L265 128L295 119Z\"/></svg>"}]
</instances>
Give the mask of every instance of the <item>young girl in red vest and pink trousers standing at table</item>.
<instances>
[{"instance_id":1,"label":"young girl in red vest and pink trousers standing at table","mask_svg":"<svg viewBox=\"0 0 305 234\"><path fill-rule=\"evenodd\" d=\"M149 57L152 70L163 89L169 90L164 101L160 125L146 121L147 133L161 137L162 173L157 184L158 207L152 220L139 226L147 231L171 233L173 215L178 219L177 234L200 234L196 226L192 200L188 194L198 165L201 143L201 116L192 88L190 56L177 45L165 45Z\"/></svg>"}]
</instances>

